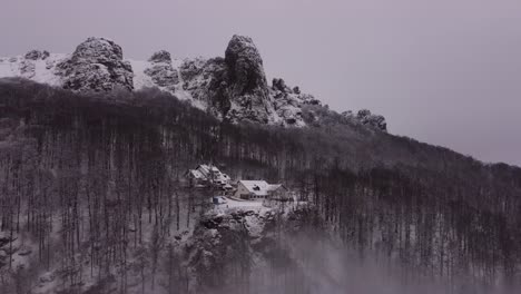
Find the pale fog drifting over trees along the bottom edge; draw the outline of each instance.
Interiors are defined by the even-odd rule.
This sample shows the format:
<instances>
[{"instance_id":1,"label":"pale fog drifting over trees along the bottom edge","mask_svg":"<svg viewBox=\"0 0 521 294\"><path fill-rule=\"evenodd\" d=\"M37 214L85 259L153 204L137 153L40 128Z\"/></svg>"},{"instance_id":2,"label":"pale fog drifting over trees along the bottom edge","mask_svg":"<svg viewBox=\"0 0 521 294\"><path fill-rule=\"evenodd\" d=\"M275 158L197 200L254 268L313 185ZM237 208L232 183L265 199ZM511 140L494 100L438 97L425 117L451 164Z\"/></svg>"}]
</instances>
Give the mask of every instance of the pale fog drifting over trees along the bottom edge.
<instances>
[{"instance_id":1,"label":"pale fog drifting over trees along the bottom edge","mask_svg":"<svg viewBox=\"0 0 521 294\"><path fill-rule=\"evenodd\" d=\"M379 258L375 252L361 255L323 233L285 235L279 263L253 271L247 282L209 293L258 294L513 294L521 288L482 285L470 277L433 278L425 268L407 268ZM363 256L363 257L362 257ZM289 257L289 258L288 258ZM425 273L425 274L421 274Z\"/></svg>"}]
</instances>

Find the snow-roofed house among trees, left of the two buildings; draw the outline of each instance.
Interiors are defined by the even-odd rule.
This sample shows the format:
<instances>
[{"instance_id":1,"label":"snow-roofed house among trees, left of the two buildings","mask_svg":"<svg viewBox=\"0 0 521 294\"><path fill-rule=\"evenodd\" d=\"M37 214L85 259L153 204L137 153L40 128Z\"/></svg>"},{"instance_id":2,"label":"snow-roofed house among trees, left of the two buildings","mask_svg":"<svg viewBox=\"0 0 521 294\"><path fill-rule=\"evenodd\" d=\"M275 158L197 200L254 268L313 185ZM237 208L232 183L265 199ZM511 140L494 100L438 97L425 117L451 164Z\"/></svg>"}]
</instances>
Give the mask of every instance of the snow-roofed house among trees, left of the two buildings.
<instances>
[{"instance_id":1,"label":"snow-roofed house among trees, left of the two buildings","mask_svg":"<svg viewBox=\"0 0 521 294\"><path fill-rule=\"evenodd\" d=\"M199 165L186 173L190 187L232 189L230 177L214 165Z\"/></svg>"}]
</instances>

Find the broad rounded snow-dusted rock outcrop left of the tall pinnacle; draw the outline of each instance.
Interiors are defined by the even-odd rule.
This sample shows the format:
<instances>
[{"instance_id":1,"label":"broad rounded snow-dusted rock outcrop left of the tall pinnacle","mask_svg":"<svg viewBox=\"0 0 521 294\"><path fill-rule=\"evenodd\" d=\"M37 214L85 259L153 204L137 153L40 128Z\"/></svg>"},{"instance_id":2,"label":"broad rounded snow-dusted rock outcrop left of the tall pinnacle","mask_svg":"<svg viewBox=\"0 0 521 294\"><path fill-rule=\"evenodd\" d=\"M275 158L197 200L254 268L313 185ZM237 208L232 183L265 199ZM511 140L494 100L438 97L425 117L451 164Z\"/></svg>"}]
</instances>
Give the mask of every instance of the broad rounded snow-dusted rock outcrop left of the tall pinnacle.
<instances>
[{"instance_id":1,"label":"broad rounded snow-dusted rock outcrop left of the tall pinnacle","mask_svg":"<svg viewBox=\"0 0 521 294\"><path fill-rule=\"evenodd\" d=\"M57 68L63 88L76 91L109 91L116 87L134 89L132 68L122 59L121 47L104 38L89 38Z\"/></svg>"}]
</instances>

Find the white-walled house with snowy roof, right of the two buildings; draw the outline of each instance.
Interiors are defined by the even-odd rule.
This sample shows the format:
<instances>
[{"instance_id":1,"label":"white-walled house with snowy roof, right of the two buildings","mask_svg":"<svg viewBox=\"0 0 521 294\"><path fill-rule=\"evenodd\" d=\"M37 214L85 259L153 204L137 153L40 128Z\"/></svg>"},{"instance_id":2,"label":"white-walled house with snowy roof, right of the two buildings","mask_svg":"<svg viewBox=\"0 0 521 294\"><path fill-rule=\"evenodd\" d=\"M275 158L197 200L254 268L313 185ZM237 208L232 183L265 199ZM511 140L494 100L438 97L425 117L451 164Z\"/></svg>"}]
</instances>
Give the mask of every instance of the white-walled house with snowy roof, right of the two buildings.
<instances>
[{"instance_id":1,"label":"white-walled house with snowy roof, right of the two buildings","mask_svg":"<svg viewBox=\"0 0 521 294\"><path fill-rule=\"evenodd\" d=\"M235 197L244 200L286 199L287 188L282 184L268 184L266 180L239 180Z\"/></svg>"}]
</instances>

